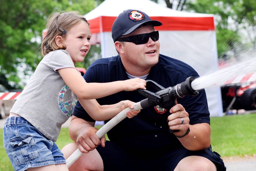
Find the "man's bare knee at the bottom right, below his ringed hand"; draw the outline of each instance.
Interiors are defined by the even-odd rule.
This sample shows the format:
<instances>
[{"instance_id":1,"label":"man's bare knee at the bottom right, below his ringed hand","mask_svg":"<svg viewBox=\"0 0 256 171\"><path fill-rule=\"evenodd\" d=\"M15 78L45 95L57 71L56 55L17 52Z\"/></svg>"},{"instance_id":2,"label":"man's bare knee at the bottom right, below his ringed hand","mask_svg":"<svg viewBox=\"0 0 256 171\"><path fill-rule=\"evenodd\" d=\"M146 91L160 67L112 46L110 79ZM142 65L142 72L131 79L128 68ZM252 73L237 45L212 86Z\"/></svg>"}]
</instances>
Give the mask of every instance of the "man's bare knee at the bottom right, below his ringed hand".
<instances>
[{"instance_id":1,"label":"man's bare knee at the bottom right, below his ringed hand","mask_svg":"<svg viewBox=\"0 0 256 171\"><path fill-rule=\"evenodd\" d=\"M174 171L216 171L217 168L211 160L201 156L188 156L180 160Z\"/></svg>"}]
</instances>

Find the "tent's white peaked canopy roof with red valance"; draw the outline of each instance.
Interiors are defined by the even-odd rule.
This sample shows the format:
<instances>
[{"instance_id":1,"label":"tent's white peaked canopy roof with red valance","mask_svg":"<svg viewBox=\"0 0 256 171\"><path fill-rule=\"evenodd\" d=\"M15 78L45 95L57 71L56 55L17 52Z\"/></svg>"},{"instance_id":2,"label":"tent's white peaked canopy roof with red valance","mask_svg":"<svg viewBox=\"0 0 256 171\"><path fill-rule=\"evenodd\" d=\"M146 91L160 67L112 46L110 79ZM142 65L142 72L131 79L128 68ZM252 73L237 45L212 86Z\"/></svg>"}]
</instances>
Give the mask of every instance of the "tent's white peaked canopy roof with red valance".
<instances>
[{"instance_id":1,"label":"tent's white peaked canopy roof with red valance","mask_svg":"<svg viewBox=\"0 0 256 171\"><path fill-rule=\"evenodd\" d=\"M91 25L91 32L109 32L116 17L127 9L146 12L152 20L163 23L158 30L214 30L212 14L175 11L150 0L130 3L124 0L105 0L85 15Z\"/></svg>"}]
</instances>

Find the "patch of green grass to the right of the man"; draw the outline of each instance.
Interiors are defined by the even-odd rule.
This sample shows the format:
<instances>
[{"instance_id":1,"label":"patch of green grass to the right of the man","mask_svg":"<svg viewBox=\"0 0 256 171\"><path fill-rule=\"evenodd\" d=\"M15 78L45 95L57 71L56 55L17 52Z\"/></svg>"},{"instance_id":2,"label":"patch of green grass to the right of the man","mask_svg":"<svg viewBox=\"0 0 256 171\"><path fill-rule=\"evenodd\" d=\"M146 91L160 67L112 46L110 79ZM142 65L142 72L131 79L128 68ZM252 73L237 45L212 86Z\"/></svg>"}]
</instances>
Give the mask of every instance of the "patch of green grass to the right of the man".
<instances>
[{"instance_id":1,"label":"patch of green grass to the right of the man","mask_svg":"<svg viewBox=\"0 0 256 171\"><path fill-rule=\"evenodd\" d=\"M212 150L221 156L256 154L256 114L211 118Z\"/></svg>"}]
</instances>

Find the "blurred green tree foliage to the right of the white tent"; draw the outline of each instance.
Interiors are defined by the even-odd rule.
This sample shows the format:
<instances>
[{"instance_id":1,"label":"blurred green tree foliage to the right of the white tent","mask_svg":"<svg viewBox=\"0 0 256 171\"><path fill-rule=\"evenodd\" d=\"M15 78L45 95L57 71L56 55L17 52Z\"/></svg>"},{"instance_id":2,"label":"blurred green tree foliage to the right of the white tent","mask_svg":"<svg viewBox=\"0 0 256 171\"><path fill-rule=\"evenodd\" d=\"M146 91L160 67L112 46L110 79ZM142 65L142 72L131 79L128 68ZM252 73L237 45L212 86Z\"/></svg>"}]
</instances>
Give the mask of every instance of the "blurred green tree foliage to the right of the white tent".
<instances>
[{"instance_id":1,"label":"blurred green tree foliage to the right of the white tent","mask_svg":"<svg viewBox=\"0 0 256 171\"><path fill-rule=\"evenodd\" d=\"M255 0L165 0L167 7L198 13L214 14L219 57L228 51L237 54L237 47L256 48L256 1ZM181 6L183 8L181 8ZM224 54L224 55L223 55Z\"/></svg>"}]
</instances>

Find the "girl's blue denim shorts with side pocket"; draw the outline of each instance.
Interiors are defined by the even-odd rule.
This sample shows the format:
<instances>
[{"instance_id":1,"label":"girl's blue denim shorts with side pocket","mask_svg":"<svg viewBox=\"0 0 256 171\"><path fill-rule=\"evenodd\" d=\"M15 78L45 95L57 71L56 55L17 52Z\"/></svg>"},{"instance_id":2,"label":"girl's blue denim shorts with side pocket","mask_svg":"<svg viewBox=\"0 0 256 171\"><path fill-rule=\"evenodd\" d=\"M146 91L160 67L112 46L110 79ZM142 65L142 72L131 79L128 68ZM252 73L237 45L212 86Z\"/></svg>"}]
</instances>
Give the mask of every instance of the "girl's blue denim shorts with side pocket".
<instances>
[{"instance_id":1,"label":"girl's blue denim shorts with side pocket","mask_svg":"<svg viewBox=\"0 0 256 171\"><path fill-rule=\"evenodd\" d=\"M16 171L66 163L58 146L22 117L6 119L3 141L12 167Z\"/></svg>"}]
</instances>

